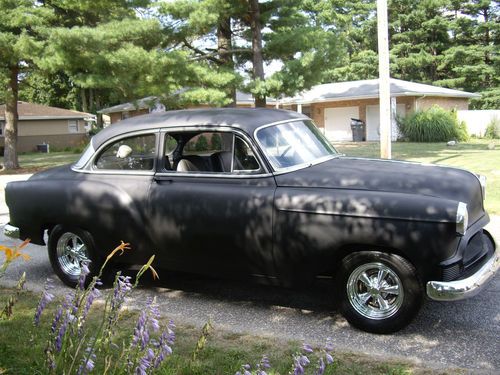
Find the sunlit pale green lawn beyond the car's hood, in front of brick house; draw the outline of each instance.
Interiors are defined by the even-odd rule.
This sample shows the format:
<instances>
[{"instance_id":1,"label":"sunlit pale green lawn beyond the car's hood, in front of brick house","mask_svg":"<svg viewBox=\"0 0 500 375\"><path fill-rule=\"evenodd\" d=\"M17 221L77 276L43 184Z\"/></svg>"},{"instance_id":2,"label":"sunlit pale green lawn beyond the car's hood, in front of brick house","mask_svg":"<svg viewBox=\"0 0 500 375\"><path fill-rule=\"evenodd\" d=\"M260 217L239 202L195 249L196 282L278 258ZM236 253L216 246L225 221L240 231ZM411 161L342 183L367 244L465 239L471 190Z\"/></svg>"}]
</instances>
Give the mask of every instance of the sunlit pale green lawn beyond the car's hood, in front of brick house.
<instances>
[{"instance_id":1,"label":"sunlit pale green lawn beyond the car's hood, in front of brick house","mask_svg":"<svg viewBox=\"0 0 500 375\"><path fill-rule=\"evenodd\" d=\"M493 150L488 145L494 144ZM334 144L339 152L348 156L378 158L378 142L350 142ZM472 140L456 146L443 143L407 143L392 144L392 158L420 163L448 165L467 169L487 177L486 210L493 215L500 215L500 141Z\"/></svg>"}]
</instances>

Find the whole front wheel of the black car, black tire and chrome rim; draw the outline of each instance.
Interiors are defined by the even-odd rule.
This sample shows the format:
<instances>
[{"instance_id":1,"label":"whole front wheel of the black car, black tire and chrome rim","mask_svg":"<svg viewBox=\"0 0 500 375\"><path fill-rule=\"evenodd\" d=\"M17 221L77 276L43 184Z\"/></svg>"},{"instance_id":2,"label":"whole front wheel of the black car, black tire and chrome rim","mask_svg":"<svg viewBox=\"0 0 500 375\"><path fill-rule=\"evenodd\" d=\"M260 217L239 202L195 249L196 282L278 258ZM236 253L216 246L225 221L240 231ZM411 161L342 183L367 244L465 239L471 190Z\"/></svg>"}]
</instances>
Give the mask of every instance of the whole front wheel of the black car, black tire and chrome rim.
<instances>
[{"instance_id":1,"label":"whole front wheel of the black car, black tire and chrome rim","mask_svg":"<svg viewBox=\"0 0 500 375\"><path fill-rule=\"evenodd\" d=\"M347 256L337 287L344 317L353 326L373 333L404 328L423 301L415 267L395 254L374 251Z\"/></svg>"}]
</instances>

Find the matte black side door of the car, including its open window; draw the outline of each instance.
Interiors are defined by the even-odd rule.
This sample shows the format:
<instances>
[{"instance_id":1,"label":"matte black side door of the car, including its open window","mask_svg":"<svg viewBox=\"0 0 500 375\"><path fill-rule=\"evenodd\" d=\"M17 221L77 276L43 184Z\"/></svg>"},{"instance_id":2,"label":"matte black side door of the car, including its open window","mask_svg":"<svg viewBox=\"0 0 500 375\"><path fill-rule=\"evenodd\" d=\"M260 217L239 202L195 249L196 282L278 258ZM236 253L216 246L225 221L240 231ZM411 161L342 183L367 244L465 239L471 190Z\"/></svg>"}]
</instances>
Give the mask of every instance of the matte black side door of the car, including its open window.
<instances>
[{"instance_id":1,"label":"matte black side door of the car, including its open window","mask_svg":"<svg viewBox=\"0 0 500 375\"><path fill-rule=\"evenodd\" d=\"M162 135L163 166L150 192L151 236L161 264L203 274L272 277L274 177L246 136L209 130L193 137L191 147L173 145L171 134L182 142L182 132ZM206 144L197 155L189 152ZM180 153L194 170L181 167ZM217 167L219 157L225 167Z\"/></svg>"}]
</instances>

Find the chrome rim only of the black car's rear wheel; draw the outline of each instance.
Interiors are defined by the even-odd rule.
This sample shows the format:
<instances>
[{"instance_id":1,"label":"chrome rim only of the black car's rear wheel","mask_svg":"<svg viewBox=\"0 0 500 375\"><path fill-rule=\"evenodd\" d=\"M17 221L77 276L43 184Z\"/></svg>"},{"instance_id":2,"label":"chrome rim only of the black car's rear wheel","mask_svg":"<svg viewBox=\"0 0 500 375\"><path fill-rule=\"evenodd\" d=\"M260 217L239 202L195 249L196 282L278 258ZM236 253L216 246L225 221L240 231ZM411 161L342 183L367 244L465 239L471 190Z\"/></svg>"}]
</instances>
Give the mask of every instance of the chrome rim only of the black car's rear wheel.
<instances>
[{"instance_id":1,"label":"chrome rim only of the black car's rear wheel","mask_svg":"<svg viewBox=\"0 0 500 375\"><path fill-rule=\"evenodd\" d=\"M87 246L80 237L71 232L59 237L56 252L61 270L67 275L79 276L82 262L90 261Z\"/></svg>"}]
</instances>

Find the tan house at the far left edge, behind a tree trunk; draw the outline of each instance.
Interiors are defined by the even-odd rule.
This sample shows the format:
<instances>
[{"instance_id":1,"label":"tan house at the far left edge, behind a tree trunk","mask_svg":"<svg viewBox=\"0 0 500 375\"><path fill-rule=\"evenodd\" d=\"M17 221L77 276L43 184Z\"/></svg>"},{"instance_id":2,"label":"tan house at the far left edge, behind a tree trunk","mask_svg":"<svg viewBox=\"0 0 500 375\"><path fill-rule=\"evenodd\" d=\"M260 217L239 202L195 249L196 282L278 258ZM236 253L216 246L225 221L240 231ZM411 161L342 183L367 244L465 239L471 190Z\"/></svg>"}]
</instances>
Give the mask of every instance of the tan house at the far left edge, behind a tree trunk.
<instances>
[{"instance_id":1,"label":"tan house at the far left edge, behind a tree trunk","mask_svg":"<svg viewBox=\"0 0 500 375\"><path fill-rule=\"evenodd\" d=\"M18 152L36 151L37 145L75 147L87 140L86 122L93 115L41 104L18 102ZM5 105L0 105L0 149L5 144Z\"/></svg>"}]
</instances>

